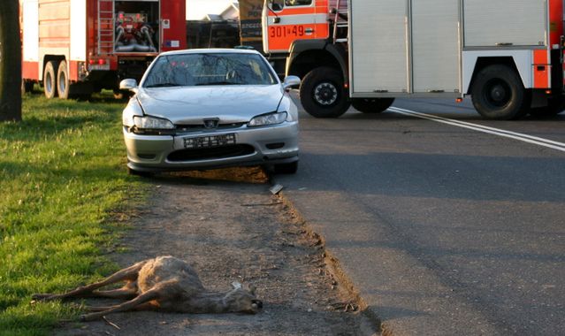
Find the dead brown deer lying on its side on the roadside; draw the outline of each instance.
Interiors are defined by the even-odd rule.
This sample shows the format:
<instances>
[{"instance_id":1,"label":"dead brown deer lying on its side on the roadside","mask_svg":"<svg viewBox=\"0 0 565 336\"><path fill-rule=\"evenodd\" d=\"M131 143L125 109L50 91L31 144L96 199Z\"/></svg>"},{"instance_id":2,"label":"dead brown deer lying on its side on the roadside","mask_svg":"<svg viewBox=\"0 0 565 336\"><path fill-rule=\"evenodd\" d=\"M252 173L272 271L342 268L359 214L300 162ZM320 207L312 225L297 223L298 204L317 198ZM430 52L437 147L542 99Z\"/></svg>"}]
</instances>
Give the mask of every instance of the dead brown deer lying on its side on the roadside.
<instances>
[{"instance_id":1,"label":"dead brown deer lying on its side on the roadside","mask_svg":"<svg viewBox=\"0 0 565 336\"><path fill-rule=\"evenodd\" d=\"M98 288L118 282L126 285L113 290ZM185 261L173 256L158 256L117 271L102 281L80 286L65 294L34 294L37 301L51 301L76 297L106 297L129 300L110 307L87 307L89 314L82 321L92 321L105 315L128 310L153 309L181 313L256 314L263 302L256 299L255 287L243 288L233 282L227 292L211 292L202 286L196 271Z\"/></svg>"}]
</instances>

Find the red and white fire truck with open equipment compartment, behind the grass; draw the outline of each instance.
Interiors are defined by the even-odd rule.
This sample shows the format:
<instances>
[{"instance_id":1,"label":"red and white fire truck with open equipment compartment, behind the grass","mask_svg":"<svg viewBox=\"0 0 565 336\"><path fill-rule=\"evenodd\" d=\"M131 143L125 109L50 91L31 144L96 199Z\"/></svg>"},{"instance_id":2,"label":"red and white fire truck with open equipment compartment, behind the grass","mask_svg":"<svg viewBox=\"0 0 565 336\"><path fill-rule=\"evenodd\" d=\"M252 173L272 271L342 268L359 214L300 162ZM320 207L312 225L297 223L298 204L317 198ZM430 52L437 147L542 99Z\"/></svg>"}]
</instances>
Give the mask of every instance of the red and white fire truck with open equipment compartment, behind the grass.
<instances>
[{"instance_id":1,"label":"red and white fire truck with open equipment compartment, behind the grass","mask_svg":"<svg viewBox=\"0 0 565 336\"><path fill-rule=\"evenodd\" d=\"M48 98L118 92L160 51L185 49L185 1L20 0L23 90Z\"/></svg>"}]
</instances>

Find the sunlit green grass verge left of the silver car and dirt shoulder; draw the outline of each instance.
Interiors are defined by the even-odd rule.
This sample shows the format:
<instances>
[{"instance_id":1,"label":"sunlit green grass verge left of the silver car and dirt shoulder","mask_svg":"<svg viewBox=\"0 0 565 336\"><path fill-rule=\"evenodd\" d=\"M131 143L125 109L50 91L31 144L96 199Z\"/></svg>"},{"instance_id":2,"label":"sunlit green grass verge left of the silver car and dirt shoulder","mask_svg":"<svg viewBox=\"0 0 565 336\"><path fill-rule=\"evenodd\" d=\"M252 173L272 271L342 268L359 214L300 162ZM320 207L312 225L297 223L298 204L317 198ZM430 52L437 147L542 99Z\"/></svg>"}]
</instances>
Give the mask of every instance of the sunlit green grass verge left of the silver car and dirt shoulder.
<instances>
[{"instance_id":1,"label":"sunlit green grass verge left of the silver car and dirt shoulder","mask_svg":"<svg viewBox=\"0 0 565 336\"><path fill-rule=\"evenodd\" d=\"M23 99L20 123L0 123L0 334L45 334L77 311L31 305L115 269L107 257L126 225L116 211L140 202L127 176L125 103Z\"/></svg>"}]
</instances>

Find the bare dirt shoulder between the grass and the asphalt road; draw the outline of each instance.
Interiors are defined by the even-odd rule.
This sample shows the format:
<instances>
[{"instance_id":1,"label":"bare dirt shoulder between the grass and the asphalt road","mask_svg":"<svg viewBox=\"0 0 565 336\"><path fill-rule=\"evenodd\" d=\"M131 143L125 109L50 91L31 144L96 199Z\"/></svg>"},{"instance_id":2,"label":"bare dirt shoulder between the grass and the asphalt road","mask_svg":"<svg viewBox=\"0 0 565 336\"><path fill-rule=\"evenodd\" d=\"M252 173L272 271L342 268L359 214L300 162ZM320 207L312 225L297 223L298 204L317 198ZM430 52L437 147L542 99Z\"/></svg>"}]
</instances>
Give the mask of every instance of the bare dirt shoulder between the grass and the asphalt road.
<instances>
[{"instance_id":1,"label":"bare dirt shoulder between the grass and the asphalt road","mask_svg":"<svg viewBox=\"0 0 565 336\"><path fill-rule=\"evenodd\" d=\"M363 315L352 311L358 310L354 299L328 271L319 240L279 196L271 195L263 172L218 172L154 179L149 206L133 220L134 229L123 241L129 252L113 257L126 266L154 256L177 256L192 263L211 289L227 289L233 280L253 283L263 311L254 316L120 313L107 317L119 329L99 321L66 325L64 334L372 333Z\"/></svg>"}]
</instances>

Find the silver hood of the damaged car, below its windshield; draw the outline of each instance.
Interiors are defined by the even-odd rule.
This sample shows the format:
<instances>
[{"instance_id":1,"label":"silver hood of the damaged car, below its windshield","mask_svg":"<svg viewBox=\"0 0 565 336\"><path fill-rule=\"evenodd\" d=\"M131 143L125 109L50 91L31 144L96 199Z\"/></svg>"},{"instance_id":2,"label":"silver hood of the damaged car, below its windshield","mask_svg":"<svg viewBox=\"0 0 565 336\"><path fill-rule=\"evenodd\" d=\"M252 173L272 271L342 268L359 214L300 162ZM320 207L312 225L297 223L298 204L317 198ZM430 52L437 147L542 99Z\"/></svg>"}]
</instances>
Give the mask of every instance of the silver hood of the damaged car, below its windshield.
<instances>
[{"instance_id":1,"label":"silver hood of the damaged car, below its windshield","mask_svg":"<svg viewBox=\"0 0 565 336\"><path fill-rule=\"evenodd\" d=\"M220 123L228 124L277 111L283 95L280 85L234 85L140 88L137 99L145 114L174 124L202 124L203 118L219 118Z\"/></svg>"}]
</instances>

